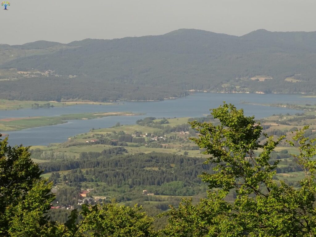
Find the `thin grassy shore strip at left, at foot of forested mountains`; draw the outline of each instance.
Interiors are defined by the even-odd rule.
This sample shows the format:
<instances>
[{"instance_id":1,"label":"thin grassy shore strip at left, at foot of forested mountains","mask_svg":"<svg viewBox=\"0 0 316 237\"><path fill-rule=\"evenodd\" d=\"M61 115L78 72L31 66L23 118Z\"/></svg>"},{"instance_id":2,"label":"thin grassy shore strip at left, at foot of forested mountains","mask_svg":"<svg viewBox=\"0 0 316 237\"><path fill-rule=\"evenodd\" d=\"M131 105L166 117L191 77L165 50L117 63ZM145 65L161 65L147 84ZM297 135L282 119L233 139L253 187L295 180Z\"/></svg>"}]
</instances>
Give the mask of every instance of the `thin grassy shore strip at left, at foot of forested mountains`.
<instances>
[{"instance_id":1,"label":"thin grassy shore strip at left, at foot of forested mountains","mask_svg":"<svg viewBox=\"0 0 316 237\"><path fill-rule=\"evenodd\" d=\"M34 108L34 104L47 104L54 107L72 106L78 104L93 104L93 105L112 105L113 103L90 102L90 101L74 101L74 102L57 102L57 101L33 101L33 100L3 100L0 99L0 110L12 110L22 108ZM33 106L32 106L33 105Z\"/></svg>"}]
</instances>

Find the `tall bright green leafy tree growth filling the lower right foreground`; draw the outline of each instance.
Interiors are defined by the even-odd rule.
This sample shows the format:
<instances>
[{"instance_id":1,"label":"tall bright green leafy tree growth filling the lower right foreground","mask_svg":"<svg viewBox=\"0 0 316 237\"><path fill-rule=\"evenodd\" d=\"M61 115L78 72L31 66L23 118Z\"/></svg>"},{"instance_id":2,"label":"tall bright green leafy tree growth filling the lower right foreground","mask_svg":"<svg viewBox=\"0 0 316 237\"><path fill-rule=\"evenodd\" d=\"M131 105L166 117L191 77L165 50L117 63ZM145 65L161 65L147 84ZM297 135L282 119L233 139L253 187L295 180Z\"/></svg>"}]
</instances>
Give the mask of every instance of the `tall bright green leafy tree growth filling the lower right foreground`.
<instances>
[{"instance_id":1,"label":"tall bright green leafy tree growth filling the lower right foreground","mask_svg":"<svg viewBox=\"0 0 316 237\"><path fill-rule=\"evenodd\" d=\"M220 125L191 122L200 133L192 138L204 154L206 163L214 165L214 174L200 177L209 183L208 196L197 205L185 199L179 208L172 208L169 224L163 230L167 236L316 236L315 139L304 137L305 127L295 133L291 146L298 146L295 156L305 171L301 188L294 189L282 180L274 179L278 161L270 153L284 137L267 135L260 144L262 128L254 117L245 117L243 110L224 103L211 114ZM234 192L236 199L225 197Z\"/></svg>"}]
</instances>

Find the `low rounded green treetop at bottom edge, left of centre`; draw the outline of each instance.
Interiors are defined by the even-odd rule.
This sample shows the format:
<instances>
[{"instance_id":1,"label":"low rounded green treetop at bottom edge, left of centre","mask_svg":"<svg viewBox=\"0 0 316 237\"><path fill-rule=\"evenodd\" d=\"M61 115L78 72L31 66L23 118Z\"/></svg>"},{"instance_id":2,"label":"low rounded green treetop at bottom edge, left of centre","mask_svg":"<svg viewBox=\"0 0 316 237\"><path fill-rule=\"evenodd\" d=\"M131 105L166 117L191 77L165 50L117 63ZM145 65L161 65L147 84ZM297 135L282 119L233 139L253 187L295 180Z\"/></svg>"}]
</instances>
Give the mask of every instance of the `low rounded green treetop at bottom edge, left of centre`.
<instances>
[{"instance_id":1,"label":"low rounded green treetop at bottom edge, left of centre","mask_svg":"<svg viewBox=\"0 0 316 237\"><path fill-rule=\"evenodd\" d=\"M92 207L82 205L82 211L71 212L62 233L56 236L76 237L155 237L153 221L142 208L120 206L115 202ZM76 224L78 216L81 221ZM60 228L59 228L60 229Z\"/></svg>"}]
</instances>

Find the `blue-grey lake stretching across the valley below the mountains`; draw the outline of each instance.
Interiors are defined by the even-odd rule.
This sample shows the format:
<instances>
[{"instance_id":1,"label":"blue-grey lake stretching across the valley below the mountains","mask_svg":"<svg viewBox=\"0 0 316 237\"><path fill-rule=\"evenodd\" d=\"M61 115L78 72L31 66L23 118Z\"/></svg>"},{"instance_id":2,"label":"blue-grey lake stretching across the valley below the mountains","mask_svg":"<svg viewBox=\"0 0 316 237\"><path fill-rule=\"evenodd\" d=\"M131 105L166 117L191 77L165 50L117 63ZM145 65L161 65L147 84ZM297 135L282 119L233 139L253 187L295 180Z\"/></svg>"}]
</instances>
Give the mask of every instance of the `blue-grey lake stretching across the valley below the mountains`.
<instances>
[{"instance_id":1,"label":"blue-grey lake stretching across the valley below the mountains","mask_svg":"<svg viewBox=\"0 0 316 237\"><path fill-rule=\"evenodd\" d=\"M109 116L91 120L71 120L60 125L3 132L9 134L10 145L48 145L49 143L64 142L68 137L88 132L91 128L97 129L111 127L118 122L121 124L135 124L137 119L149 116L156 118L202 117L210 113L210 108L218 107L223 101L232 103L237 108L243 108L247 116L254 115L257 119L259 119L268 117L272 114L295 114L302 111L253 104L315 104L316 98L304 98L299 94L195 93L176 100L121 102L114 105L99 105L96 103L95 105L75 105L54 108L0 111L0 119L34 116L58 116L61 114L87 112L130 111L133 113L145 113L145 115L139 116ZM253 104L244 104L243 102Z\"/></svg>"}]
</instances>

